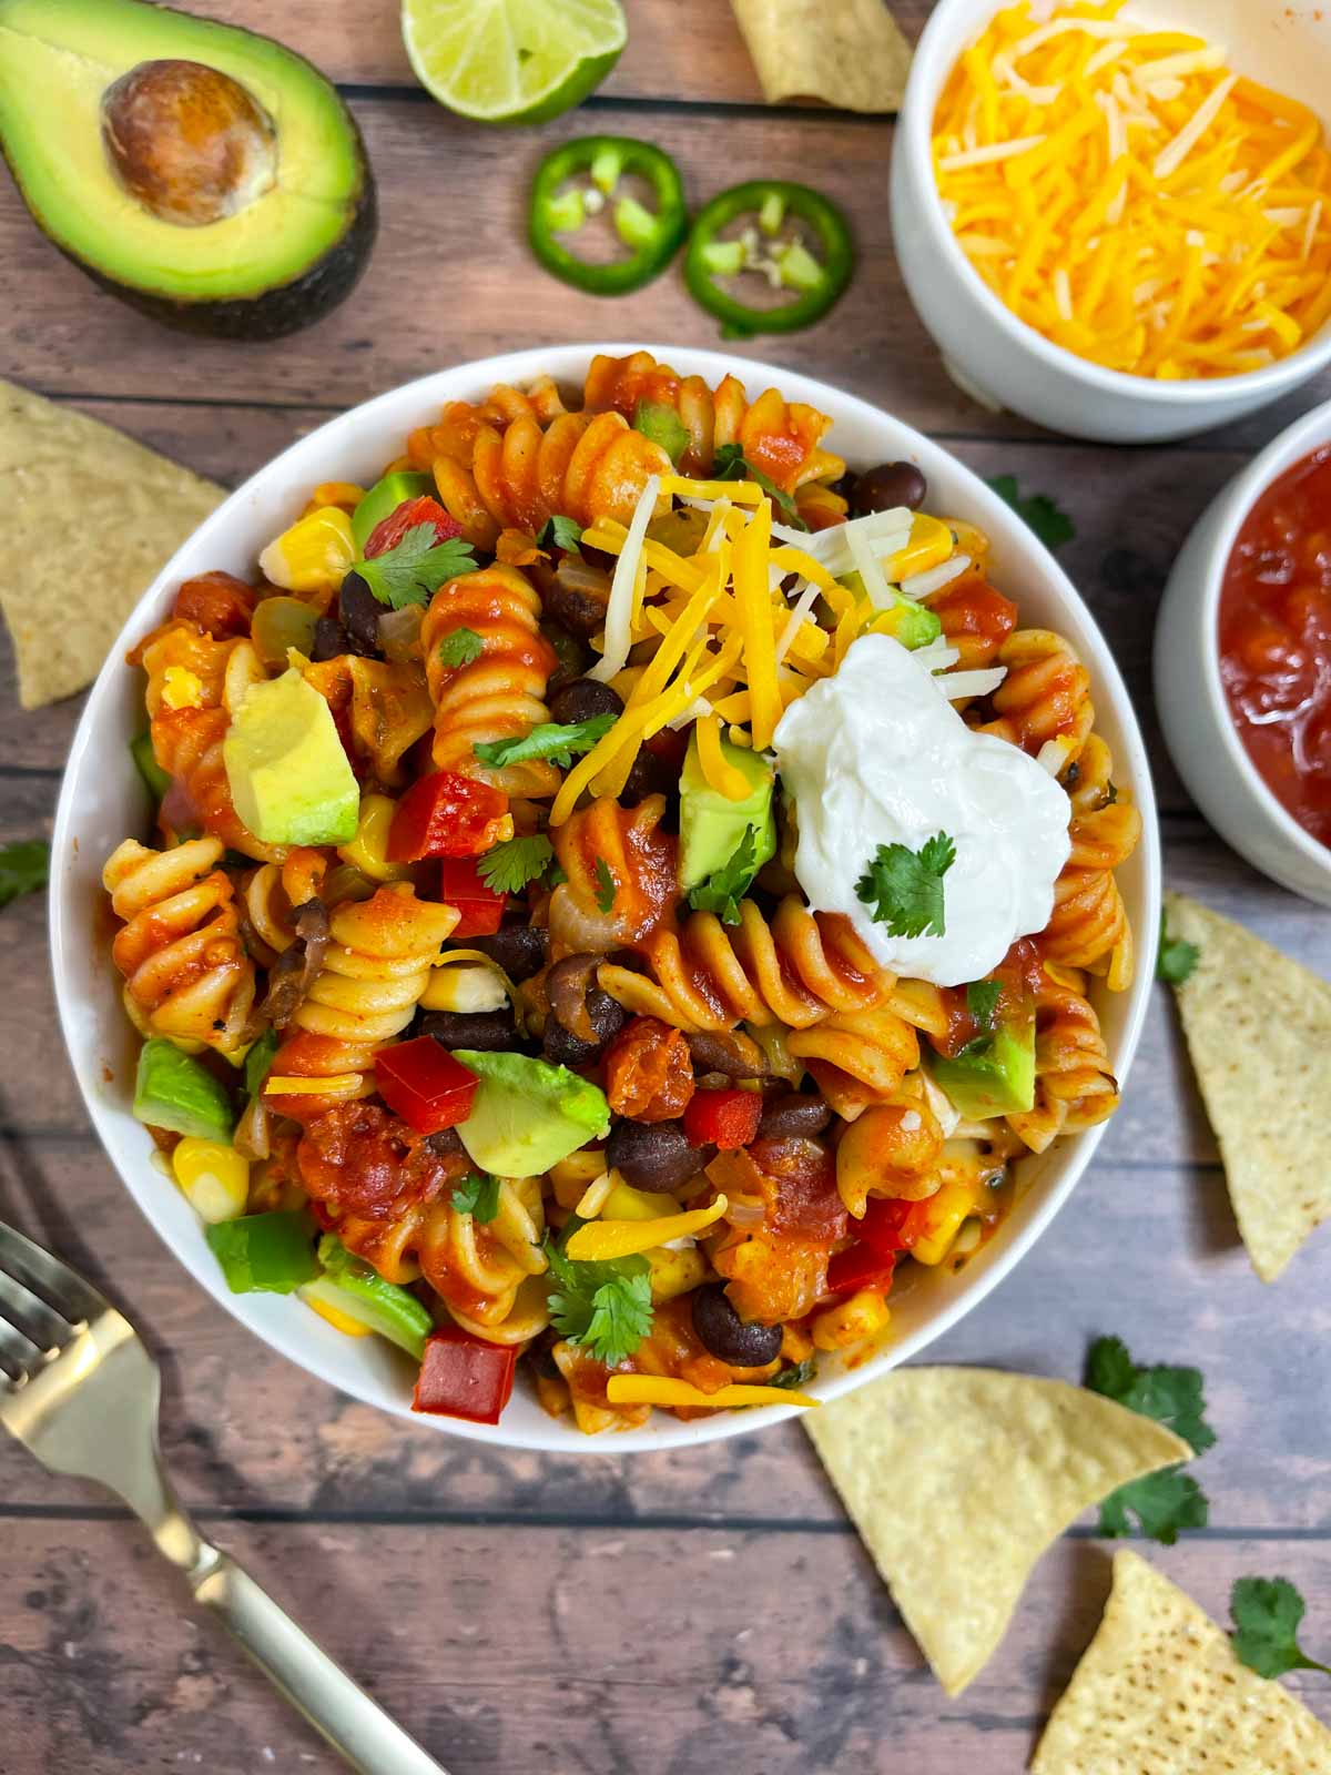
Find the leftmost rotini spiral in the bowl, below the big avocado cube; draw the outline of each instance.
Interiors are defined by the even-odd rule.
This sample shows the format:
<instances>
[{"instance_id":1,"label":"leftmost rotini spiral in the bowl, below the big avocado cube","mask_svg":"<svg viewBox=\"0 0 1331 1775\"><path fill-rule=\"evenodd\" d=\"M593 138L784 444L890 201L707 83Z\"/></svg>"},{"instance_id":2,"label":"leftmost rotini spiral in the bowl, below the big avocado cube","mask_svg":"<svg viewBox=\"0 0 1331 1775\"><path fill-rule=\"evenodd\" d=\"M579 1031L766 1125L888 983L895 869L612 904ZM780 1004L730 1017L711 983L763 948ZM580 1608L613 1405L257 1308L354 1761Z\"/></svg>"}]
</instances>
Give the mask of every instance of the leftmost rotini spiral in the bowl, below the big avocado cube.
<instances>
[{"instance_id":1,"label":"leftmost rotini spiral in the bowl, below the big avocado cube","mask_svg":"<svg viewBox=\"0 0 1331 1775\"><path fill-rule=\"evenodd\" d=\"M240 941L234 891L220 861L217 838L192 838L172 850L126 838L101 880L124 919L112 958L126 976L135 1026L229 1054L245 1040L254 962Z\"/></svg>"}]
</instances>

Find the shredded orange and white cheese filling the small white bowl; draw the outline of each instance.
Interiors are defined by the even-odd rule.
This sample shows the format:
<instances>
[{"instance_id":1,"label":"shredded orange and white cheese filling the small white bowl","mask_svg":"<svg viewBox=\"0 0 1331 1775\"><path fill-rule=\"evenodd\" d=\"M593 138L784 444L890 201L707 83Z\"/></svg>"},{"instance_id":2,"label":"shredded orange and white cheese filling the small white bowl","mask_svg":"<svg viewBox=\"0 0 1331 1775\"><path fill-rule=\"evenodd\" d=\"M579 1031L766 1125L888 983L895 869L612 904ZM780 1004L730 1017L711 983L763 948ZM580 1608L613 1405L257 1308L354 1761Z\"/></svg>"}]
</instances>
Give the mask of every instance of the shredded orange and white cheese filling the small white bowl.
<instances>
[{"instance_id":1,"label":"shredded orange and white cheese filling the small white bowl","mask_svg":"<svg viewBox=\"0 0 1331 1775\"><path fill-rule=\"evenodd\" d=\"M988 288L1109 369L1240 375L1331 318L1319 119L1125 0L997 12L944 85L933 169Z\"/></svg>"}]
</instances>

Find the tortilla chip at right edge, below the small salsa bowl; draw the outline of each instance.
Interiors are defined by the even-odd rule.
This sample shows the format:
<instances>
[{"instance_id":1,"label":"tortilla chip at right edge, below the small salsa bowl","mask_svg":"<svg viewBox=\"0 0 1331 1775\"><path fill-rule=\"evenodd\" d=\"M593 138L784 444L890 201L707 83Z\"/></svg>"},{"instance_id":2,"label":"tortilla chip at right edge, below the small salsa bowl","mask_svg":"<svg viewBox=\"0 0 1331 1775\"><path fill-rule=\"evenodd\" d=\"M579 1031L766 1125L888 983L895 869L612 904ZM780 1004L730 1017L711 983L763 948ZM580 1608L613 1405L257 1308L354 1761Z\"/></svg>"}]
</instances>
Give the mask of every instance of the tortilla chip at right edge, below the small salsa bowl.
<instances>
[{"instance_id":1,"label":"tortilla chip at right edge, below the small salsa bowl","mask_svg":"<svg viewBox=\"0 0 1331 1775\"><path fill-rule=\"evenodd\" d=\"M1166 930L1201 951L1178 990L1184 1035L1253 1269L1274 1282L1331 1219L1331 985L1185 895Z\"/></svg>"}]
</instances>

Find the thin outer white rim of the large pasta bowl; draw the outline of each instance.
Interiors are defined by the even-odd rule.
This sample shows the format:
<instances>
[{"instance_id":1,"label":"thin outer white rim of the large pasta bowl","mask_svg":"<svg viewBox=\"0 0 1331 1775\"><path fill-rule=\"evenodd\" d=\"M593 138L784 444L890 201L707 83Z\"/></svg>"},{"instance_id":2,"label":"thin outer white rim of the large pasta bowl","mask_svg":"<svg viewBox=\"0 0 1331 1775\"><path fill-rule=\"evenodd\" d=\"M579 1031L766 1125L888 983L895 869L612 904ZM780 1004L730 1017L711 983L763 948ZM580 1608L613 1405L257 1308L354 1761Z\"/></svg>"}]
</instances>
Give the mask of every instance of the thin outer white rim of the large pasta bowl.
<instances>
[{"instance_id":1,"label":"thin outer white rim of the large pasta bowl","mask_svg":"<svg viewBox=\"0 0 1331 1775\"><path fill-rule=\"evenodd\" d=\"M1090 637L1091 674L1097 685L1097 692L1104 698L1107 708L1113 708L1123 733L1125 746L1125 777L1132 783L1134 795L1143 813L1143 840L1141 840L1141 864L1145 872L1143 886L1143 907L1141 907L1141 927L1143 941L1146 932L1159 925L1161 912L1161 847L1159 847L1159 829L1155 824L1155 792L1150 776L1150 761L1146 756L1145 740L1141 737L1141 728L1138 722L1134 703L1123 683L1123 676L1118 671L1118 662L1109 651L1109 644L1100 634L1100 627L1095 621L1090 607L1081 598L1068 575L1058 564L1058 561L1049 554L1044 543L1024 525L1024 522L1006 506L997 493L988 488L980 476L969 469L960 458L953 456L942 444L935 444L933 438L918 431L914 426L893 414L884 412L871 401L862 399L857 394L850 394L832 383L820 382L815 376L802 375L799 371L784 369L777 364L768 364L758 359L747 357L729 357L724 351L692 348L692 346L669 346L653 344L648 341L630 341L630 343L589 343L589 344L566 344L566 346L531 346L522 351L509 351L500 357L490 359L472 359L461 364L453 364L442 371L431 371L426 376L417 376L413 382L403 383L396 389L387 389L382 394L373 396L369 401L348 408L344 414L335 414L325 424L318 426L314 431L302 438L296 438L287 449L280 451L272 462L264 463L241 485L199 525L197 531L186 538L181 548L165 563L161 572L156 575L153 584L144 591L144 596L135 605L124 628L115 639L114 648L106 655L98 678L89 692L83 715L80 717L78 730L75 731L75 740L69 751L69 761L66 765L66 774L60 785L60 801L55 813L55 827L51 832L51 854L55 857L55 866L60 873L53 879L51 900L50 900L50 939L51 939L51 967L55 974L55 999L57 1012L60 1017L60 1028L66 1038L66 1047L71 1053L75 1049L73 1035L73 992L66 990L66 982L76 978L80 966L87 966L87 955L80 953L78 946L78 923L75 918L75 909L66 907L66 879L67 872L60 866L60 859L69 854L73 834L71 827L76 816L73 785L82 777L83 770L89 769L87 754L92 746L92 728L98 719L98 712L103 701L108 701L114 694L112 687L115 674L121 669L124 651L133 644L146 621L146 612L154 605L163 589L177 575L176 561L192 550L201 540L209 538L213 532L222 532L231 524L232 515L243 509L247 499L252 495L256 486L268 479L279 465L282 465L295 453L309 451L318 454L318 444L332 428L344 426L357 419L367 419L376 414L378 408L405 401L408 396L419 390L422 408L433 399L437 405L438 394L431 390L438 389L444 378L458 382L458 389L449 390L449 398L461 398L461 385L470 390L472 398L488 390L495 382L527 382L538 375L550 375L555 382L573 382L586 375L586 367L596 353L607 353L610 357L625 357L630 351L650 351L660 362L685 362L685 375L705 375L708 380L719 380L724 375L735 375L745 387L754 380L765 378L770 387L781 389L786 399L809 401L816 405L827 401L831 396L832 408L845 412L847 408L857 410L859 417L866 424L880 426L884 419L900 431L900 447L912 454L921 463L928 465L932 462L941 462L949 474L960 476L967 485L967 506L971 518L978 520L988 534L999 538L1013 552L1033 552L1036 557L1044 556L1047 563L1047 572L1058 593L1058 598L1070 607L1070 611L1081 618L1084 630ZM822 410L822 408L820 408ZM834 421L836 424L836 421ZM928 467L926 467L928 472ZM105 958L108 964L108 958ZM1132 1060L1136 1058L1138 1045L1141 1042L1141 1030L1146 1019L1146 1008L1150 1003L1150 980L1152 971L1143 967L1138 971L1138 978L1132 982L1127 992L1127 1005L1123 1010L1123 1030L1118 1042L1118 1051L1114 1054L1114 1065L1123 1077ZM465 1441L483 1443L493 1448L531 1448L543 1454L570 1454L570 1456L618 1456L618 1454L662 1454L671 1448L699 1447L701 1443L724 1441L729 1436L747 1436L754 1431L767 1429L768 1425L784 1422L788 1418L799 1416L799 1406L761 1406L747 1411L729 1411L717 1415L715 1418L697 1418L689 1424L673 1424L666 1429L653 1431L651 1425L635 1431L616 1431L612 1436L591 1438L586 1436L580 1441L573 1441L570 1432L555 1436L552 1432L538 1434L531 1431L520 1431L516 1427L506 1429L502 1420L499 1424L469 1424L463 1418L437 1418L429 1415L413 1413L410 1409L408 1397L380 1397L367 1381L360 1377L339 1376L330 1379L325 1369L319 1365L318 1356L307 1347L307 1340L300 1337L296 1326L296 1315L282 1315L275 1324L254 1322L245 1303L252 1299L250 1296L236 1296L225 1287L222 1271L217 1273L209 1269L201 1269L193 1264L183 1242L176 1239L172 1228L160 1218L151 1202L154 1200L147 1189L138 1189L130 1177L124 1175L119 1163L110 1154L110 1145L101 1138L101 1122L108 1113L106 1106L94 1095L92 1081L85 1079L78 1069L75 1069L78 1088L83 1095L83 1102L89 1111L92 1127L98 1132L103 1152L110 1161L112 1170L121 1180L130 1198L135 1202L144 1219L153 1227L154 1234L163 1241L163 1244L172 1251L181 1267L193 1278L193 1282L202 1287L217 1303L222 1306L245 1331L252 1337L259 1337L264 1344L275 1349L280 1356L286 1356L296 1367L312 1374L316 1379L335 1388L337 1392L350 1393L362 1404L373 1406L378 1411L387 1411L392 1416L403 1418L417 1427L429 1425L440 1434L456 1436ZM971 1285L958 1292L957 1298L948 1299L941 1305L939 1312L910 1337L903 1337L900 1342L887 1345L875 1356L855 1367L854 1370L841 1370L825 1379L818 1379L809 1388L815 1397L822 1400L839 1399L843 1393L854 1392L866 1381L877 1379L889 1369L909 1361L921 1349L933 1344L939 1337L949 1331L960 1319L973 1312L992 1289L999 1285L1028 1255L1028 1251L1040 1241L1045 1234L1049 1223L1054 1219L1058 1211L1067 1203L1081 1179L1086 1175L1095 1150L1106 1134L1107 1122L1099 1127L1084 1129L1072 1136L1075 1145L1068 1143L1059 1148L1061 1156L1061 1175L1047 1184L1045 1200L1029 1212L1026 1223L1017 1228L1010 1241L1004 1241L1003 1250L994 1253L992 1262L978 1271ZM1054 1148L1051 1148L1052 1152ZM1028 1163L1047 1161L1045 1156L1028 1156ZM167 1184L165 1179L154 1173L154 1182ZM266 1299L266 1298L264 1298ZM552 1429L555 1420L552 1422ZM586 1443L586 1447L584 1447Z\"/></svg>"}]
</instances>

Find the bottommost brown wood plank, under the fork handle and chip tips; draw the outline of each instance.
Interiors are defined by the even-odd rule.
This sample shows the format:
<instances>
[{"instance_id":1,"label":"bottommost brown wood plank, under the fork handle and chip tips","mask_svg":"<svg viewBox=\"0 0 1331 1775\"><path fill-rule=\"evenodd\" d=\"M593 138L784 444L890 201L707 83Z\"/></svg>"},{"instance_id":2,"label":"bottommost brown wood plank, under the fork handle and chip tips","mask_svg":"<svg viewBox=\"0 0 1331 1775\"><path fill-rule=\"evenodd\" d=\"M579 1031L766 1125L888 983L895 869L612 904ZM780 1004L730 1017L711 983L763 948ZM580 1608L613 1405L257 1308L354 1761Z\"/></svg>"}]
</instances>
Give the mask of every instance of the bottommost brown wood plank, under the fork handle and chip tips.
<instances>
[{"instance_id":1,"label":"bottommost brown wood plank, under the fork handle and chip tips","mask_svg":"<svg viewBox=\"0 0 1331 1775\"><path fill-rule=\"evenodd\" d=\"M224 1539L453 1775L1019 1775L1109 1589L1099 1546L1059 1542L949 1700L850 1537L282 1525ZM222 1745L234 1770L341 1768L133 1528L32 1521L9 1541L5 1775L218 1768ZM1152 1557L1217 1619L1235 1576L1269 1571L1299 1583L1313 1621L1331 1612L1326 1544ZM1315 1676L1288 1686L1327 1711Z\"/></svg>"}]
</instances>

